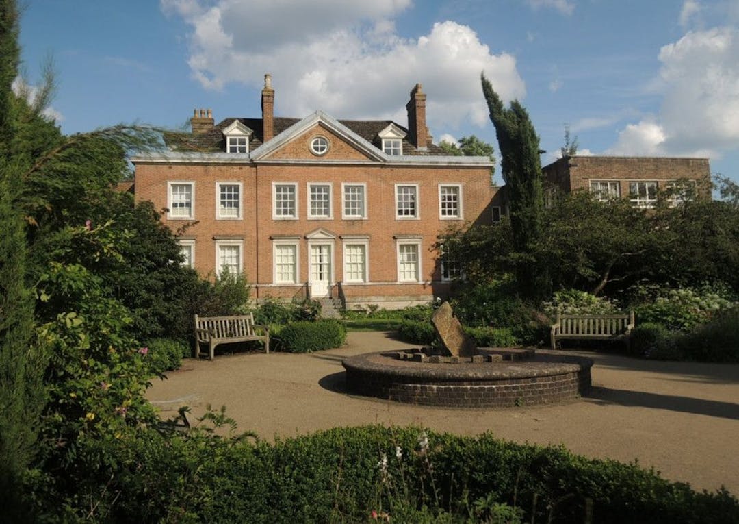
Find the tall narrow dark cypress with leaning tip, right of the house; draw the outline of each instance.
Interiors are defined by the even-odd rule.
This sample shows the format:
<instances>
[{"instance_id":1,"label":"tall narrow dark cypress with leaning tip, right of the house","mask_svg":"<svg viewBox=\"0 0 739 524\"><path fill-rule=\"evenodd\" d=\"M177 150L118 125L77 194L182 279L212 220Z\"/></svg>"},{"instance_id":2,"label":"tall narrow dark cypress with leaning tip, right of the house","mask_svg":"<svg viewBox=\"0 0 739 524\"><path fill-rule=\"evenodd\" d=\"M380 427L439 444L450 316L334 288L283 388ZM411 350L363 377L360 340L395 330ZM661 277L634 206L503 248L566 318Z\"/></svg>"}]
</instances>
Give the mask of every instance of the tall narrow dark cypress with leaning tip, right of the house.
<instances>
[{"instance_id":1,"label":"tall narrow dark cypress with leaning tip, right of the house","mask_svg":"<svg viewBox=\"0 0 739 524\"><path fill-rule=\"evenodd\" d=\"M546 267L533 255L542 235L544 214L539 137L519 101L511 102L508 109L503 107L503 101L484 74L481 81L503 157L500 167L510 202L518 289L522 298L538 301L549 288Z\"/></svg>"}]
</instances>

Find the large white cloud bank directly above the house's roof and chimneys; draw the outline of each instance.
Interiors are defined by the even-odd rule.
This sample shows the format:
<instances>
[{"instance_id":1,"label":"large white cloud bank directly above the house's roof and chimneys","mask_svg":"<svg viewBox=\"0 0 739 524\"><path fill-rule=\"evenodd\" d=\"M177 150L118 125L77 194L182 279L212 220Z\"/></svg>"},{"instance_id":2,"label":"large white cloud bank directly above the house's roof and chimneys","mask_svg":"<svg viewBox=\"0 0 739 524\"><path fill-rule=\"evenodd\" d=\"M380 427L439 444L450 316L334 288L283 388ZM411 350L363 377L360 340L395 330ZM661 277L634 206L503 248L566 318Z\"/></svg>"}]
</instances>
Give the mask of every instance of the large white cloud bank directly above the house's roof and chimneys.
<instances>
[{"instance_id":1,"label":"large white cloud bank directly above the house's roof and chimneys","mask_svg":"<svg viewBox=\"0 0 739 524\"><path fill-rule=\"evenodd\" d=\"M276 113L320 109L337 118L405 121L405 103L420 82L433 129L488 122L480 89L485 73L505 100L522 98L516 60L493 54L470 27L434 24L404 38L393 18L410 0L161 0L165 13L192 27L189 65L219 90L236 82L261 88L271 73Z\"/></svg>"}]
</instances>

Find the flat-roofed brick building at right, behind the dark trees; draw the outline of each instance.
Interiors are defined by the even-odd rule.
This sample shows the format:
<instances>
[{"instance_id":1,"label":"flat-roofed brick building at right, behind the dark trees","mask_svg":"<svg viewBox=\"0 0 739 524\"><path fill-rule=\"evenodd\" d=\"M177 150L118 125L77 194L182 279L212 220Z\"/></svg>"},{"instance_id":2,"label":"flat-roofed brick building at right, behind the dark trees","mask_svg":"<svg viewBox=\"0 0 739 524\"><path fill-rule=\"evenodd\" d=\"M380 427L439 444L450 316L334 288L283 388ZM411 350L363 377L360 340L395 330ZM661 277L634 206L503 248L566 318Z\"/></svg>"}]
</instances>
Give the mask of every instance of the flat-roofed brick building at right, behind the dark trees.
<instances>
[{"instance_id":1,"label":"flat-roofed brick building at right, behind the dark trees","mask_svg":"<svg viewBox=\"0 0 739 524\"><path fill-rule=\"evenodd\" d=\"M707 158L568 156L543 169L548 201L557 192L578 189L600 198L629 198L635 206L652 207L666 191L675 204L684 198L710 198Z\"/></svg>"}]
</instances>

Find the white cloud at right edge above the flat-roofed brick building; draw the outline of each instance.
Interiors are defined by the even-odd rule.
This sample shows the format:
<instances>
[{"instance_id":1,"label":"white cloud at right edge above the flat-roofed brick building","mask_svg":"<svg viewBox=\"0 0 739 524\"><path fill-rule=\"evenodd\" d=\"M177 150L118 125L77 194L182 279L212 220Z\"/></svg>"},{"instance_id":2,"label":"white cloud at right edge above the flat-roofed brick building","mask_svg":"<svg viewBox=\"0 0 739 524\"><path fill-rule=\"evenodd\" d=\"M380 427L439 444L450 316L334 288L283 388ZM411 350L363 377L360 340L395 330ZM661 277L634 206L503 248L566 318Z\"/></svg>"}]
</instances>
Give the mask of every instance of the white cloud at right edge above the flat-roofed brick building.
<instances>
[{"instance_id":1,"label":"white cloud at right edge above the flat-roofed brick building","mask_svg":"<svg viewBox=\"0 0 739 524\"><path fill-rule=\"evenodd\" d=\"M739 30L689 32L662 47L659 114L630 124L618 152L717 156L739 144ZM633 148L633 149L632 149Z\"/></svg>"}]
</instances>

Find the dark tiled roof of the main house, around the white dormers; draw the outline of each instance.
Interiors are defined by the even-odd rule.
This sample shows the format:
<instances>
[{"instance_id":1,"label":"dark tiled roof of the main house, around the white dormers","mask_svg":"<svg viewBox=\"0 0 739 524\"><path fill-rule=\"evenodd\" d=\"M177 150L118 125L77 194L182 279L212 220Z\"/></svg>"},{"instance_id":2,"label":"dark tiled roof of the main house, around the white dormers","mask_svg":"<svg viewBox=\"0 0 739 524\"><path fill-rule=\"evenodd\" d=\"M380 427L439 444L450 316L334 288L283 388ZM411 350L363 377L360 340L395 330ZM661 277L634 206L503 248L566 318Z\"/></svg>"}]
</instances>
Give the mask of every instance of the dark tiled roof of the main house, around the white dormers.
<instances>
[{"instance_id":1,"label":"dark tiled roof of the main house, around the white dormers","mask_svg":"<svg viewBox=\"0 0 739 524\"><path fill-rule=\"evenodd\" d=\"M188 152L224 152L225 137L223 130L234 123L237 118L225 118L216 124L212 130L193 135L189 132L167 132L164 140L168 147L174 151ZM238 120L246 127L253 131L251 141L249 142L249 150L253 151L261 146L264 141L264 130L262 129L262 118L238 118ZM299 118L275 117L273 121L274 135L277 136L285 131L288 127L299 122ZM384 130L389 124L395 124L403 131L408 132L403 127L392 120L339 120L341 124L361 136L371 144L381 149L382 144L378 138L378 132ZM403 139L403 155L446 155L446 153L436 144L429 144L426 151L419 151L408 141Z\"/></svg>"}]
</instances>

